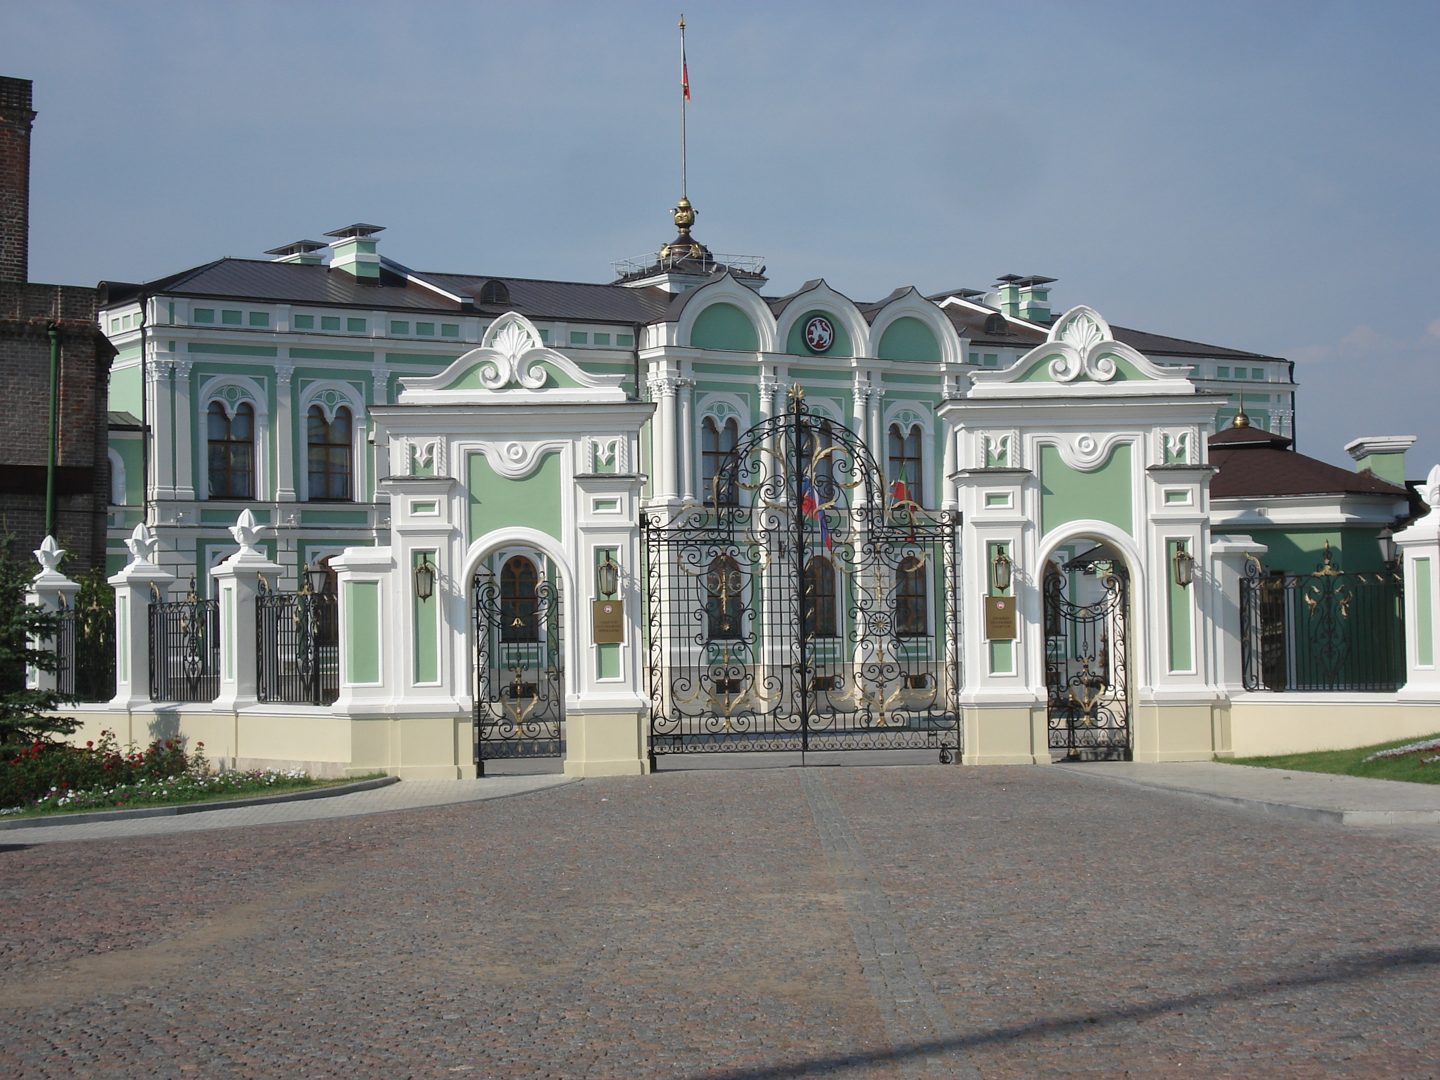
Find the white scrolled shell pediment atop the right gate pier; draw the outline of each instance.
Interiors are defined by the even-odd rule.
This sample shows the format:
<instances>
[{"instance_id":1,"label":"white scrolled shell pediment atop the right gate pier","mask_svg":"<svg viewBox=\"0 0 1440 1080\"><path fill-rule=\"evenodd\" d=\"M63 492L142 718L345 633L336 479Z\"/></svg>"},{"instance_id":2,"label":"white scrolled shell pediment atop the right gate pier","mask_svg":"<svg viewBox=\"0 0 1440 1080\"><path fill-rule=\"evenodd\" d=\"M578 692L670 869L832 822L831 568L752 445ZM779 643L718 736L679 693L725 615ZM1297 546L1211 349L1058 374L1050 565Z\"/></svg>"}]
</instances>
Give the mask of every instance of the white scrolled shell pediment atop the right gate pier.
<instances>
[{"instance_id":1,"label":"white scrolled shell pediment atop the right gate pier","mask_svg":"<svg viewBox=\"0 0 1440 1080\"><path fill-rule=\"evenodd\" d=\"M1116 341L1094 308L1071 308L1045 341L1002 372L975 372L971 397L1056 397L1066 395L1194 395L1189 367L1161 367L1133 346Z\"/></svg>"}]
</instances>

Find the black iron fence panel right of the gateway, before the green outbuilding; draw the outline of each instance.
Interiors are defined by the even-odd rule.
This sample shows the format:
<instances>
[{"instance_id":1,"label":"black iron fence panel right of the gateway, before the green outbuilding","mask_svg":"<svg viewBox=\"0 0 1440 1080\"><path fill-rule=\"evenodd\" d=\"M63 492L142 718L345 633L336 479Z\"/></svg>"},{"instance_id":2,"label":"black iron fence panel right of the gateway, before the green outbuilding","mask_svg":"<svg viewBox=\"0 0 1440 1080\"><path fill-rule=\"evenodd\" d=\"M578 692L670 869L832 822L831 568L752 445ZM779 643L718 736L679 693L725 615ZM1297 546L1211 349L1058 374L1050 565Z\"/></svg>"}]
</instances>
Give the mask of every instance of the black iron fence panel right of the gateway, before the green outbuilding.
<instances>
[{"instance_id":1,"label":"black iron fence panel right of the gateway, before the green outbuilding","mask_svg":"<svg viewBox=\"0 0 1440 1080\"><path fill-rule=\"evenodd\" d=\"M1240 626L1246 690L1394 691L1405 681L1398 572L1341 572L1328 553L1310 575L1266 573L1251 560Z\"/></svg>"}]
</instances>

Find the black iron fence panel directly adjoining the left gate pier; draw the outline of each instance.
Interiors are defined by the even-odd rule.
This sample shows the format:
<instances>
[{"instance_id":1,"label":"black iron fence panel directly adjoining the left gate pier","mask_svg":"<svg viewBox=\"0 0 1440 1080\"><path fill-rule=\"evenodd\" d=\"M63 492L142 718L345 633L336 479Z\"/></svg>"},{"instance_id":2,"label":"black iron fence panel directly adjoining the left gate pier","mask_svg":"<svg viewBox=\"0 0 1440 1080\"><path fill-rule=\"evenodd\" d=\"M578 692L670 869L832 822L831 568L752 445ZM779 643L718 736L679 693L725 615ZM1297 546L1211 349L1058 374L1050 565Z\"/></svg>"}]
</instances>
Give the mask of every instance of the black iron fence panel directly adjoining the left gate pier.
<instances>
[{"instance_id":1,"label":"black iron fence panel directly adjoining the left gate pier","mask_svg":"<svg viewBox=\"0 0 1440 1080\"><path fill-rule=\"evenodd\" d=\"M255 598L261 701L328 706L340 697L338 619L331 592L261 589Z\"/></svg>"}]
</instances>

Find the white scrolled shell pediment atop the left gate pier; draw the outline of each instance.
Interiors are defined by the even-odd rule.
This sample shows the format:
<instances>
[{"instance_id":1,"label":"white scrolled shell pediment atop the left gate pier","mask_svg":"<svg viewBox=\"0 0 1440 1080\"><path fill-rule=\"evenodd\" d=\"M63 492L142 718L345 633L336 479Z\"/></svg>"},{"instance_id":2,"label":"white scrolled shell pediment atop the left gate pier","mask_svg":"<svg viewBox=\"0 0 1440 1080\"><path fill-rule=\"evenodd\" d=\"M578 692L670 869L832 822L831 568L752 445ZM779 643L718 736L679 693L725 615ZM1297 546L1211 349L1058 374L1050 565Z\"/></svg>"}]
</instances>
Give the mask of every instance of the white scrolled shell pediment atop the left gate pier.
<instances>
[{"instance_id":1,"label":"white scrolled shell pediment atop the left gate pier","mask_svg":"<svg viewBox=\"0 0 1440 1080\"><path fill-rule=\"evenodd\" d=\"M624 402L622 374L592 374L540 340L524 315L508 311L485 330L480 348L439 374L400 380L400 405L484 405L497 400Z\"/></svg>"}]
</instances>

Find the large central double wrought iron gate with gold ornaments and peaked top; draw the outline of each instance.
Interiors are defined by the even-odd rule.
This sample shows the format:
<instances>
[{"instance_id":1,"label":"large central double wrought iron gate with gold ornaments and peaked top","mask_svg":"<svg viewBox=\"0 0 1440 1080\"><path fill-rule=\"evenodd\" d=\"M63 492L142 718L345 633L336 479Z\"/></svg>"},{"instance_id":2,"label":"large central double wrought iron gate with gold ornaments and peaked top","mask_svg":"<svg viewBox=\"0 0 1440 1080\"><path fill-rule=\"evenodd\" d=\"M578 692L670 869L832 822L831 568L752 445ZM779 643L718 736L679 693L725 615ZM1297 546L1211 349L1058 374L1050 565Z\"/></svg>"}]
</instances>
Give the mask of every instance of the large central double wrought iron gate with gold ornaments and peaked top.
<instances>
[{"instance_id":1,"label":"large central double wrought iron gate with gold ornaments and peaked top","mask_svg":"<svg viewBox=\"0 0 1440 1080\"><path fill-rule=\"evenodd\" d=\"M886 487L799 387L642 516L649 753L960 749L959 514Z\"/></svg>"}]
</instances>

